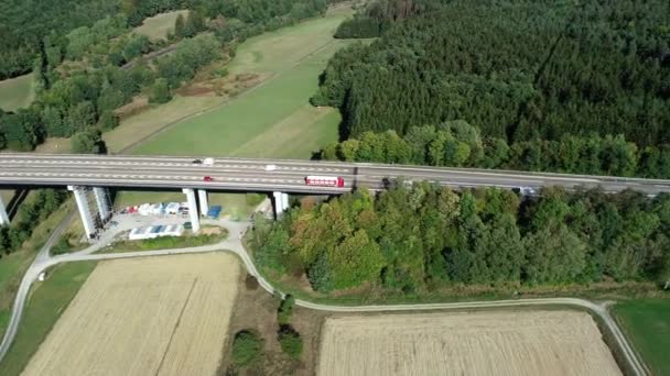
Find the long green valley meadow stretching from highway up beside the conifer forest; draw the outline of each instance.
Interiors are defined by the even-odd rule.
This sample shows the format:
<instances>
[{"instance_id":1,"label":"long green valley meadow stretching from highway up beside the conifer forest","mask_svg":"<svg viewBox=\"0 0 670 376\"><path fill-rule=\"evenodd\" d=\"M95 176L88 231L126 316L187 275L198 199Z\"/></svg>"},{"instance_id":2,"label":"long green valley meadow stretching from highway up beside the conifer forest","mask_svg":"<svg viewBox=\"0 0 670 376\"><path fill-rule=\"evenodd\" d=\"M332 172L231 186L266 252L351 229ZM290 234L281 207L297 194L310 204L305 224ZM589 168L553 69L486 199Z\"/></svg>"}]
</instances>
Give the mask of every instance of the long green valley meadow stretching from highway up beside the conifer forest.
<instances>
[{"instance_id":1,"label":"long green valley meadow stretching from highway up beside the conifer forest","mask_svg":"<svg viewBox=\"0 0 670 376\"><path fill-rule=\"evenodd\" d=\"M231 74L271 78L226 106L181 122L133 154L309 158L337 140L339 114L309 104L327 59L350 41L332 37L349 10L267 33L240 45ZM271 141L271 142L269 142Z\"/></svg>"}]
</instances>

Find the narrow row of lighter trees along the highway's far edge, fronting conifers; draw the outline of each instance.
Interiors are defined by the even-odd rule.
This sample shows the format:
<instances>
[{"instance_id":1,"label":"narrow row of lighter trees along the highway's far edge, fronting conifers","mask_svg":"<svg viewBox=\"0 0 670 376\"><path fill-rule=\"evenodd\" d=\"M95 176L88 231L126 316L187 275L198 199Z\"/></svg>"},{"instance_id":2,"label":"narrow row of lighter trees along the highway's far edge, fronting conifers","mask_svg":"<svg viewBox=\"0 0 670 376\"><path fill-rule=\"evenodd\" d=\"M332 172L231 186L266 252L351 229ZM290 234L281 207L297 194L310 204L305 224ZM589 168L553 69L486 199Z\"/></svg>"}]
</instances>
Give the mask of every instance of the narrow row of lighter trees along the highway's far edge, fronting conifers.
<instances>
[{"instance_id":1,"label":"narrow row of lighter trees along the highway's far edge, fronting conifers","mask_svg":"<svg viewBox=\"0 0 670 376\"><path fill-rule=\"evenodd\" d=\"M316 157L331 161L378 162L450 167L505 168L586 175L670 178L670 145L647 146L618 136L564 135L508 144L483 137L465 121L364 132L357 139L326 145Z\"/></svg>"}]
</instances>

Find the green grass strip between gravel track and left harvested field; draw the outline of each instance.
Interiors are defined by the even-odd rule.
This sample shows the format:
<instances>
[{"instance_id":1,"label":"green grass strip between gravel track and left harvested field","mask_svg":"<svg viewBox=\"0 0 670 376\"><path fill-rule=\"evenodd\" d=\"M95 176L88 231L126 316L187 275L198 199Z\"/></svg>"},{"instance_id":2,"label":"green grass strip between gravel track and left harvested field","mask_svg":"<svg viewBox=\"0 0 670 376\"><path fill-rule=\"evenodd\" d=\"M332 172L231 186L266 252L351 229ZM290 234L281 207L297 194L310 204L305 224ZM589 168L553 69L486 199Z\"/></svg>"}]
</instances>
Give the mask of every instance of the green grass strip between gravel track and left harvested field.
<instances>
[{"instance_id":1,"label":"green grass strip between gravel track and left harvested field","mask_svg":"<svg viewBox=\"0 0 670 376\"><path fill-rule=\"evenodd\" d=\"M34 285L14 342L0 363L0 375L21 374L95 266L94 262L60 265Z\"/></svg>"}]
</instances>

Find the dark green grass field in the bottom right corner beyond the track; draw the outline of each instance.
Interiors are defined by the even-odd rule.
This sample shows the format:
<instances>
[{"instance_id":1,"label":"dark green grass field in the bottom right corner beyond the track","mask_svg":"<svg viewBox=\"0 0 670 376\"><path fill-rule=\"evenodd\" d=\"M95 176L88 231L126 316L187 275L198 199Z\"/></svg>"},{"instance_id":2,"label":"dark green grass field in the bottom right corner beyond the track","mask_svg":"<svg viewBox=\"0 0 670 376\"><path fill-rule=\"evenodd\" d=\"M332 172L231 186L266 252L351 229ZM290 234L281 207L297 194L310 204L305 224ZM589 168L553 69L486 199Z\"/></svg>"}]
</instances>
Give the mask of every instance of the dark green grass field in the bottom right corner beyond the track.
<instances>
[{"instance_id":1,"label":"dark green grass field in the bottom right corner beyond the track","mask_svg":"<svg viewBox=\"0 0 670 376\"><path fill-rule=\"evenodd\" d=\"M670 375L670 299L624 301L614 312L651 373Z\"/></svg>"}]
</instances>

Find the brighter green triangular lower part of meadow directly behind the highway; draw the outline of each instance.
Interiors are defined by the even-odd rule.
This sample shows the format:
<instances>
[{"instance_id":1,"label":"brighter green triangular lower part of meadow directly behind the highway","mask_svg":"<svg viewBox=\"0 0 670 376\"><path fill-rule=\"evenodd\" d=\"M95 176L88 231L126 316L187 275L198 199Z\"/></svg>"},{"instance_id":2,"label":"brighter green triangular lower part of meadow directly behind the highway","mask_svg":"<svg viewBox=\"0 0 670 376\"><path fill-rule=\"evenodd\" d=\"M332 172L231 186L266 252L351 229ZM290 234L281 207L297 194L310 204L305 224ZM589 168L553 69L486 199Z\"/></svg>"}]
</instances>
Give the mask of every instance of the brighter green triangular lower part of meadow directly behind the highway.
<instances>
[{"instance_id":1,"label":"brighter green triangular lower part of meadow directly behind the highway","mask_svg":"<svg viewBox=\"0 0 670 376\"><path fill-rule=\"evenodd\" d=\"M322 53L334 51L326 48ZM274 154L264 156L285 157L291 154L309 158L312 151L323 146L318 144L323 140L320 132L309 132L314 124L309 120L320 119L314 117L317 109L307 108L309 99L316 90L317 77L324 68L321 64L314 64L313 58L278 75L228 106L186 120L132 153L260 156L261 153L267 154L266 147L270 145L255 143L255 140L264 137L272 140L274 151ZM331 130L321 130L331 135L329 141L337 140L339 119L333 120L331 124L325 124L332 125ZM312 136L303 137L301 143L295 142L294 136L303 131Z\"/></svg>"}]
</instances>

